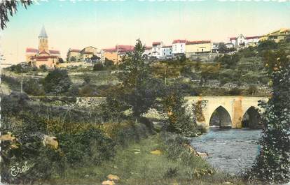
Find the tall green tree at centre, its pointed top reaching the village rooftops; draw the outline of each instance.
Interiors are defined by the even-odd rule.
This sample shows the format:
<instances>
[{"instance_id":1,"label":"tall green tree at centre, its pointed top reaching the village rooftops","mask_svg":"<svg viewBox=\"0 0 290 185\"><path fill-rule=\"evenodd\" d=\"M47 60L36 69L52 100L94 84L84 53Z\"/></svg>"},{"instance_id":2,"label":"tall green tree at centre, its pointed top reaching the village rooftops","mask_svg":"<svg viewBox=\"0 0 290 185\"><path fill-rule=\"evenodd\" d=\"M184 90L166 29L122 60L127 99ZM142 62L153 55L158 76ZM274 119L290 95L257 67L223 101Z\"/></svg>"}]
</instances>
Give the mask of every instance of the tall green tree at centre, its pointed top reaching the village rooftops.
<instances>
[{"instance_id":1,"label":"tall green tree at centre, its pointed top reaching the village rooftops","mask_svg":"<svg viewBox=\"0 0 290 185\"><path fill-rule=\"evenodd\" d=\"M149 64L145 63L142 57L144 50L145 46L137 40L134 51L123 57L120 63L123 72L118 76L122 84L123 101L136 119L155 105L161 84L160 80L153 77Z\"/></svg>"}]
</instances>

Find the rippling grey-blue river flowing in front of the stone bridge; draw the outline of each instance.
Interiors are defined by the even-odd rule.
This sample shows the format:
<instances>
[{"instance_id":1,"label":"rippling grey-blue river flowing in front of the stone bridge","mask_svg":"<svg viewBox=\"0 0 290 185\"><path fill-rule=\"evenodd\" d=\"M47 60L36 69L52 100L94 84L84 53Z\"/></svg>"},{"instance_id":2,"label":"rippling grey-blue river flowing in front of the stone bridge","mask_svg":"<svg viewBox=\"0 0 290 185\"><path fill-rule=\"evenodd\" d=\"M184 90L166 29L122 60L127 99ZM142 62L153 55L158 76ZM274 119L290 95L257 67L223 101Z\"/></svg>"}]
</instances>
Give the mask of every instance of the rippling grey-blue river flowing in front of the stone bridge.
<instances>
[{"instance_id":1,"label":"rippling grey-blue river flowing in front of the stone bridge","mask_svg":"<svg viewBox=\"0 0 290 185\"><path fill-rule=\"evenodd\" d=\"M238 174L250 168L258 154L261 130L249 128L210 128L208 133L192 138L196 151L207 152L206 160L218 170Z\"/></svg>"}]
</instances>

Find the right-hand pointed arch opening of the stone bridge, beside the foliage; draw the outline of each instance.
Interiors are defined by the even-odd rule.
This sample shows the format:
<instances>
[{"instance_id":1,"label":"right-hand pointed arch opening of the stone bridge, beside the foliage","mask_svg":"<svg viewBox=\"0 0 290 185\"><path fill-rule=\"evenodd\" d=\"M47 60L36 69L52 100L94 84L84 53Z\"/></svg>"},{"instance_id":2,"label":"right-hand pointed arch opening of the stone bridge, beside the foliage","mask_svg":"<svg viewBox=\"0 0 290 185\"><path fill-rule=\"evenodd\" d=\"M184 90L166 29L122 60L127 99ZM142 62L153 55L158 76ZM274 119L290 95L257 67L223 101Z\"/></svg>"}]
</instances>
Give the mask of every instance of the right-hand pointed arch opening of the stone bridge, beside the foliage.
<instances>
[{"instance_id":1,"label":"right-hand pointed arch opening of the stone bridge, beside the foliage","mask_svg":"<svg viewBox=\"0 0 290 185\"><path fill-rule=\"evenodd\" d=\"M242 128L261 128L263 126L261 121L261 114L258 108L251 106L242 115Z\"/></svg>"}]
</instances>

